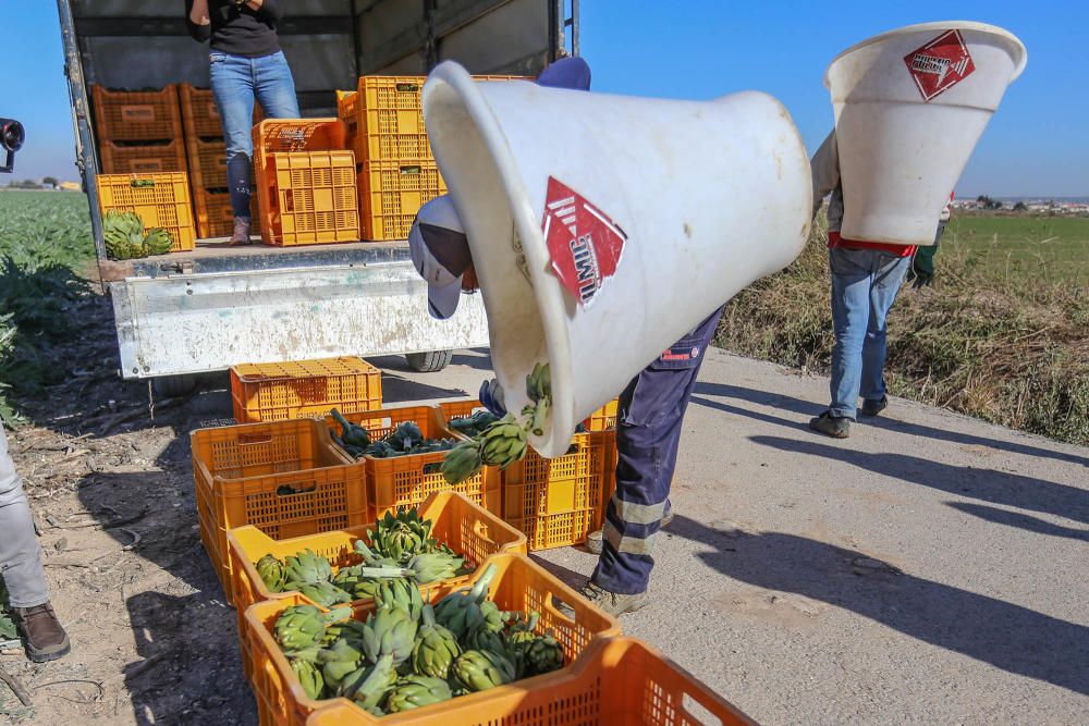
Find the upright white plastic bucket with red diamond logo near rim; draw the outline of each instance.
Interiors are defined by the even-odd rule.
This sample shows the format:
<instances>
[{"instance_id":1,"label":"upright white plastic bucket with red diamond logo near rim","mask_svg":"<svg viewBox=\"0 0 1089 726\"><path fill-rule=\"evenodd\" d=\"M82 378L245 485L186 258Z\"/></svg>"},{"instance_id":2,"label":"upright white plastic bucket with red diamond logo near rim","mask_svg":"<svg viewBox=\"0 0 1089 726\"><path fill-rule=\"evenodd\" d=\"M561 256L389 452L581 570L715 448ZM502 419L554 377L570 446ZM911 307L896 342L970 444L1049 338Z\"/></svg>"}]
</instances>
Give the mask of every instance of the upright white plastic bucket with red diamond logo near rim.
<instances>
[{"instance_id":1,"label":"upright white plastic bucket with red diamond logo near rim","mask_svg":"<svg viewBox=\"0 0 1089 726\"><path fill-rule=\"evenodd\" d=\"M840 53L824 85L835 109L843 236L932 245L942 208L1026 61L1006 30L964 21L909 25Z\"/></svg>"}]
</instances>

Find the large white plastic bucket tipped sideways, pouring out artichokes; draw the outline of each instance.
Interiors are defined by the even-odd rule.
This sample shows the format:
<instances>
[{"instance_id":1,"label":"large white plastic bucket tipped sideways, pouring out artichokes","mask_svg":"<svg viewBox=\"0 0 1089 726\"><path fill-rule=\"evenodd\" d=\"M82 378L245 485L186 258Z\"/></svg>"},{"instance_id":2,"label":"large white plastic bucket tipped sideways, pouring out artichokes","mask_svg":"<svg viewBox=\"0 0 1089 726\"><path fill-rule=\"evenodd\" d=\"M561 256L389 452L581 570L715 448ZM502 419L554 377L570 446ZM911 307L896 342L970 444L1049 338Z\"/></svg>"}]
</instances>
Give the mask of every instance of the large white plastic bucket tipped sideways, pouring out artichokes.
<instances>
[{"instance_id":1,"label":"large white plastic bucket tipped sideways, pouring out artichokes","mask_svg":"<svg viewBox=\"0 0 1089 726\"><path fill-rule=\"evenodd\" d=\"M763 94L689 102L477 84L446 62L424 86L424 118L507 408L527 402L534 364L551 365L551 426L530 440L543 456L565 453L583 418L794 260L809 232L806 150ZM565 287L552 263L574 264L586 286Z\"/></svg>"}]
</instances>

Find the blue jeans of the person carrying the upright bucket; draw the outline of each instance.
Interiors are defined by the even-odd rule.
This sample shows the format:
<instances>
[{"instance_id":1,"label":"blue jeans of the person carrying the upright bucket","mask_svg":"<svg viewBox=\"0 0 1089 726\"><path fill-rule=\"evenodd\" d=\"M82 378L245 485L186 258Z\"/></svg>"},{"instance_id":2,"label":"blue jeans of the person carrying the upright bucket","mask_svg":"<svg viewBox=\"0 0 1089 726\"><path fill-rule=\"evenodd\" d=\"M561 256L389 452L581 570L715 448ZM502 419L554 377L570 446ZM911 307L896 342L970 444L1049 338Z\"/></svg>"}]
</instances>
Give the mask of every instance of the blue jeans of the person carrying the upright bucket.
<instances>
[{"instance_id":1,"label":"blue jeans of the person carrying the upright bucket","mask_svg":"<svg viewBox=\"0 0 1089 726\"><path fill-rule=\"evenodd\" d=\"M910 257L877 249L832 247L833 416L854 420L858 396L880 401L885 394L885 318L896 299Z\"/></svg>"}]
</instances>

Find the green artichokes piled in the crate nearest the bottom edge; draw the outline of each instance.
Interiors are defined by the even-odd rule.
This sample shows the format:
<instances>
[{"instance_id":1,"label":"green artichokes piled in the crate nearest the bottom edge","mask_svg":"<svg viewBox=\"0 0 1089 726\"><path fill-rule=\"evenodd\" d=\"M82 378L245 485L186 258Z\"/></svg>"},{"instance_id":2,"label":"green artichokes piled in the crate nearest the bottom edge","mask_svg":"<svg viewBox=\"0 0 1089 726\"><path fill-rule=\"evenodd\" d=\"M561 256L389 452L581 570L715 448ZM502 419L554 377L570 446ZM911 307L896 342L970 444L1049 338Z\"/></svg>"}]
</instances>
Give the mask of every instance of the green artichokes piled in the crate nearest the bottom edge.
<instances>
[{"instance_id":1,"label":"green artichokes piled in the crate nearest the bottom edge","mask_svg":"<svg viewBox=\"0 0 1089 726\"><path fill-rule=\"evenodd\" d=\"M351 608L285 608L273 635L306 694L344 697L372 715L408 711L562 668L563 648L538 614L487 599L489 565L472 587L425 604L418 588L382 586L366 620Z\"/></svg>"}]
</instances>

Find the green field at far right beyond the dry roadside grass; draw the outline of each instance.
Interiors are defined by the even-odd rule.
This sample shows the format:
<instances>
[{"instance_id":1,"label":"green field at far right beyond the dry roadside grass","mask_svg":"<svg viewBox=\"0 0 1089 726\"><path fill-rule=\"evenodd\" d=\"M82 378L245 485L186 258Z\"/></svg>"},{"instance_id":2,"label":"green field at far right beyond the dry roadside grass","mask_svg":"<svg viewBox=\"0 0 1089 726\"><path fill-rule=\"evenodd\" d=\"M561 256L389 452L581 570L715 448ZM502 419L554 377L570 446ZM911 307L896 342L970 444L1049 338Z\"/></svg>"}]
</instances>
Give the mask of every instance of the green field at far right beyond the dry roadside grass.
<instances>
[{"instance_id":1,"label":"green field at far right beyond the dry roadside grass","mask_svg":"<svg viewBox=\"0 0 1089 726\"><path fill-rule=\"evenodd\" d=\"M1089 284L1089 217L954 217L943 251L1011 281Z\"/></svg>"}]
</instances>

